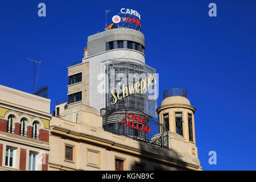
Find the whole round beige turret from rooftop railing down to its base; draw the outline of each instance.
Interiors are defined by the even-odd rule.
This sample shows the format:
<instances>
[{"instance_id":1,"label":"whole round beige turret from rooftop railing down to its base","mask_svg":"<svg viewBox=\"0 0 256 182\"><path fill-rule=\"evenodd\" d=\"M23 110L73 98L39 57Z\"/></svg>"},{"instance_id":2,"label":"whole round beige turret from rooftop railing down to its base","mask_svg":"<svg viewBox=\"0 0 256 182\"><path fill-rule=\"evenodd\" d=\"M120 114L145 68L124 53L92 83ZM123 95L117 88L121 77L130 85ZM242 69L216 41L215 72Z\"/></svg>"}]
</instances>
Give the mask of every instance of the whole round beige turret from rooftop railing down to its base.
<instances>
[{"instance_id":1,"label":"whole round beige turret from rooftop railing down to its base","mask_svg":"<svg viewBox=\"0 0 256 182\"><path fill-rule=\"evenodd\" d=\"M196 108L190 104L187 90L168 89L163 94L164 100L156 112L159 123L169 131L169 148L177 152L178 158L200 165L195 138Z\"/></svg>"}]
</instances>

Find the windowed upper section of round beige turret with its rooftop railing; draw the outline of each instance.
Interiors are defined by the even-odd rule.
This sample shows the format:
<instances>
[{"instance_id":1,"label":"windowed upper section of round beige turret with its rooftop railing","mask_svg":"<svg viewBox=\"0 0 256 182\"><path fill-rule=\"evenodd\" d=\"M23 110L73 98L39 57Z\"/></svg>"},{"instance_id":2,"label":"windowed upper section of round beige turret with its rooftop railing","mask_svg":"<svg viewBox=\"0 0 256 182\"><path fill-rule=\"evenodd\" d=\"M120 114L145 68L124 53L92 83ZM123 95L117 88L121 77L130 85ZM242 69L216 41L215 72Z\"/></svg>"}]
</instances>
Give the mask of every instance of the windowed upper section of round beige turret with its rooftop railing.
<instances>
[{"instance_id":1,"label":"windowed upper section of round beige turret with its rooftop railing","mask_svg":"<svg viewBox=\"0 0 256 182\"><path fill-rule=\"evenodd\" d=\"M168 131L179 134L188 142L195 143L194 116L196 108L187 98L187 90L175 88L165 90L164 100L156 112L159 122Z\"/></svg>"}]
</instances>

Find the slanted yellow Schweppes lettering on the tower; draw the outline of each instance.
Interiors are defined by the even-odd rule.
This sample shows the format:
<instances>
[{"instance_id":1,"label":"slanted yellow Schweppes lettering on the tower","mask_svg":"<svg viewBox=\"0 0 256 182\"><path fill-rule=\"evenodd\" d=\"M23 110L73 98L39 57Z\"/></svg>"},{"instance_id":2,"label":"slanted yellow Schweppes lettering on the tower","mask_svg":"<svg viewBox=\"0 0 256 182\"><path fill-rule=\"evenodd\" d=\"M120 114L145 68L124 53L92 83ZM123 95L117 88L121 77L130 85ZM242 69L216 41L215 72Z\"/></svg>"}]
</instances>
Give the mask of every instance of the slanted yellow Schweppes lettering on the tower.
<instances>
[{"instance_id":1,"label":"slanted yellow Schweppes lettering on the tower","mask_svg":"<svg viewBox=\"0 0 256 182\"><path fill-rule=\"evenodd\" d=\"M141 81L137 81L134 84L129 86L122 85L122 89L113 88L111 94L114 98L114 102L111 102L112 105L116 104L118 100L121 100L131 94L139 93L143 94L147 92L148 87L156 85L156 73L151 73L146 78L143 78Z\"/></svg>"}]
</instances>

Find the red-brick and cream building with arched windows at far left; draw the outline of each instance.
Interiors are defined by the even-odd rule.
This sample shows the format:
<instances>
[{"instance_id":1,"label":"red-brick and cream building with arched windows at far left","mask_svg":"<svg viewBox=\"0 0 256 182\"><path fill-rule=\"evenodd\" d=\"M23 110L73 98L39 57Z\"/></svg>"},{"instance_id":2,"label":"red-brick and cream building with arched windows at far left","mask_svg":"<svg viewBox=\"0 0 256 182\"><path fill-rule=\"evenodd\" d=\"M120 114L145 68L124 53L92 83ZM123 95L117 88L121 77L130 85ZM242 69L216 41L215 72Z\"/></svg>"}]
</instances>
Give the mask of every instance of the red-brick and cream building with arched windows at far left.
<instances>
[{"instance_id":1,"label":"red-brick and cream building with arched windows at far left","mask_svg":"<svg viewBox=\"0 0 256 182\"><path fill-rule=\"evenodd\" d=\"M50 103L0 85L0 170L48 170Z\"/></svg>"}]
</instances>

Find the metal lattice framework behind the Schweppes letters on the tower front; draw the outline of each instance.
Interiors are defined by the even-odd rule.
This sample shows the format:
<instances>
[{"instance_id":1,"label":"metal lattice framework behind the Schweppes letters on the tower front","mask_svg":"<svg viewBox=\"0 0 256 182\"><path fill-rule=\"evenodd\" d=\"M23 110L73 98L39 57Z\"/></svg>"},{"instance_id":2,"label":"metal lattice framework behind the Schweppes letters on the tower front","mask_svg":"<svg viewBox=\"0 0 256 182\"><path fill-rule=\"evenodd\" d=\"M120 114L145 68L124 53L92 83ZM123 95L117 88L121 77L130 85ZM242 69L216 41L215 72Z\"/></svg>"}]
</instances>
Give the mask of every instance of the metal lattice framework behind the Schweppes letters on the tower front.
<instances>
[{"instance_id":1,"label":"metal lattice framework behind the Schweppes letters on the tower front","mask_svg":"<svg viewBox=\"0 0 256 182\"><path fill-rule=\"evenodd\" d=\"M122 89L124 86L129 86L137 81L141 81L144 77L151 73L155 73L154 68L149 67L143 63L135 63L131 60L124 59L112 59L106 61L105 73L106 73L106 101L105 107L122 109L130 108L134 110L142 111L150 117L156 118L157 99L150 99L152 93L134 93L128 97L124 97L118 100L116 104L112 105L114 98L111 94L113 88ZM156 86L151 86L148 90L154 90Z\"/></svg>"}]
</instances>

